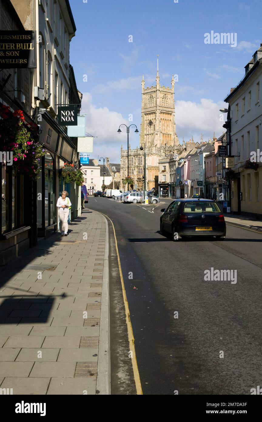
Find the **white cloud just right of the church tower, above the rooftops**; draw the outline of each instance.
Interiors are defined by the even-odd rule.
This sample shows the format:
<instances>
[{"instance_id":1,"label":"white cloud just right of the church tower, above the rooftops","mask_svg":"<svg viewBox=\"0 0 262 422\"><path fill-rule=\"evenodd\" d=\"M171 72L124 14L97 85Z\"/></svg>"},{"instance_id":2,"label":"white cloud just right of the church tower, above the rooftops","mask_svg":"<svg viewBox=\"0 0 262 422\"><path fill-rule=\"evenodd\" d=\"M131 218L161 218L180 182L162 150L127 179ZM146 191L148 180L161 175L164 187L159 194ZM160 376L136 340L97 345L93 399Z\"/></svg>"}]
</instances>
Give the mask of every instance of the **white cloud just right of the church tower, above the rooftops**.
<instances>
[{"instance_id":1,"label":"white cloud just right of the church tower, above the rooftops","mask_svg":"<svg viewBox=\"0 0 262 422\"><path fill-rule=\"evenodd\" d=\"M200 139L200 134L203 133L204 140L211 138L214 132L220 136L224 132L222 127L224 122L219 121L221 114L219 109L224 107L223 101L214 103L213 100L207 98L202 98L200 103L177 100L176 132L179 141L182 142L183 136L185 139L191 138L192 134L199 135Z\"/></svg>"}]
</instances>

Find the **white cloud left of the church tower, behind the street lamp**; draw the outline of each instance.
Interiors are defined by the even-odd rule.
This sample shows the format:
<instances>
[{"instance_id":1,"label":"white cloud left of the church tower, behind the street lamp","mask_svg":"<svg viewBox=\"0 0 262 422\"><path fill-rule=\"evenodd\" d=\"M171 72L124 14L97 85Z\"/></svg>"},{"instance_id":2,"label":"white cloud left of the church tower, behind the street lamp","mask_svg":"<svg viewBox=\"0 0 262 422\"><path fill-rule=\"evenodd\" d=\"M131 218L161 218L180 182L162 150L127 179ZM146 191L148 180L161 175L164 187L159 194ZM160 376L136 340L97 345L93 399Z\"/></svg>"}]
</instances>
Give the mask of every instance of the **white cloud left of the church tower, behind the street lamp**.
<instances>
[{"instance_id":1,"label":"white cloud left of the church tower, behind the street lamp","mask_svg":"<svg viewBox=\"0 0 262 422\"><path fill-rule=\"evenodd\" d=\"M127 138L125 128L120 134L117 131L120 124L128 125L128 121L121 113L110 111L107 107L96 107L89 92L83 93L81 114L86 114L86 132L97 136L90 157L109 156L111 162L120 162L120 147L123 144L126 148Z\"/></svg>"}]
</instances>

